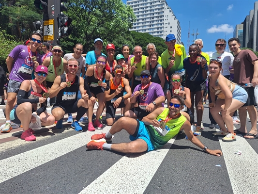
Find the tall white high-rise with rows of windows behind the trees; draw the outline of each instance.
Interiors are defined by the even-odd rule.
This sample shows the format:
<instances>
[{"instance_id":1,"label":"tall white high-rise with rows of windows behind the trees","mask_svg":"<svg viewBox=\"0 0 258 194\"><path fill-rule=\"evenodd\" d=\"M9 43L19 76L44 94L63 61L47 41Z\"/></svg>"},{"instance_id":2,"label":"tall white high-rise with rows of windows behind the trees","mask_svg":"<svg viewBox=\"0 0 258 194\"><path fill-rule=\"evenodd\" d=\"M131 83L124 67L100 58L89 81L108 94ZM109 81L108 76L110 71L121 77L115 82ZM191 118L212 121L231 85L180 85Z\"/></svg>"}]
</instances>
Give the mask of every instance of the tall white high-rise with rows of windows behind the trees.
<instances>
[{"instance_id":1,"label":"tall white high-rise with rows of windows behind the trees","mask_svg":"<svg viewBox=\"0 0 258 194\"><path fill-rule=\"evenodd\" d=\"M130 31L149 33L153 36L166 38L173 33L177 43L181 42L181 26L166 0L127 0L137 17Z\"/></svg>"}]
</instances>

